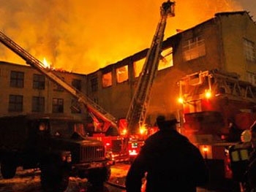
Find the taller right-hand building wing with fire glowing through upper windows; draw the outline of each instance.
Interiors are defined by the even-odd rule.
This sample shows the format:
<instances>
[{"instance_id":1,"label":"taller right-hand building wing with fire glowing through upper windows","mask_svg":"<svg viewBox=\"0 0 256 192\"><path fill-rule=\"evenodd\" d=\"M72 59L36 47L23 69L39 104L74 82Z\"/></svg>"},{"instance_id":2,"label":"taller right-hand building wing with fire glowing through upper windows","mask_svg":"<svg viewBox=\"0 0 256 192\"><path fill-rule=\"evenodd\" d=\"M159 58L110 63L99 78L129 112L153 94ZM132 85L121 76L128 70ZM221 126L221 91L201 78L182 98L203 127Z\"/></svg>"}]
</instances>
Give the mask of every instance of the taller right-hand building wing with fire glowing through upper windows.
<instances>
[{"instance_id":1,"label":"taller right-hand building wing with fire glowing through upper windows","mask_svg":"<svg viewBox=\"0 0 256 192\"><path fill-rule=\"evenodd\" d=\"M148 124L157 115L179 115L178 81L217 69L256 85L256 25L248 12L222 12L167 38L148 106ZM87 93L116 118L125 118L147 50L87 75Z\"/></svg>"}]
</instances>

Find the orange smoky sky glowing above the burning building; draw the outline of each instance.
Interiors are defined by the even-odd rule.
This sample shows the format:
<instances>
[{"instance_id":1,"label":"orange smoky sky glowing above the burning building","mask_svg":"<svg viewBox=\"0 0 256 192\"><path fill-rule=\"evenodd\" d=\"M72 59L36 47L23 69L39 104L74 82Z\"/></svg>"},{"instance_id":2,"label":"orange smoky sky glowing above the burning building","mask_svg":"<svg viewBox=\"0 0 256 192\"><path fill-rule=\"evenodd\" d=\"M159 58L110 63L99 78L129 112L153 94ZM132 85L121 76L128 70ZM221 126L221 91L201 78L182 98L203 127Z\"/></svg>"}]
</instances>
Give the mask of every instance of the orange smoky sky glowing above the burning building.
<instances>
[{"instance_id":1,"label":"orange smoky sky glowing above the burning building","mask_svg":"<svg viewBox=\"0 0 256 192\"><path fill-rule=\"evenodd\" d=\"M149 47L163 2L0 0L0 31L40 61L45 57L55 68L88 74ZM176 17L168 18L165 39L216 12L250 7L256 9L255 0L176 0ZM0 60L25 63L4 45Z\"/></svg>"}]
</instances>

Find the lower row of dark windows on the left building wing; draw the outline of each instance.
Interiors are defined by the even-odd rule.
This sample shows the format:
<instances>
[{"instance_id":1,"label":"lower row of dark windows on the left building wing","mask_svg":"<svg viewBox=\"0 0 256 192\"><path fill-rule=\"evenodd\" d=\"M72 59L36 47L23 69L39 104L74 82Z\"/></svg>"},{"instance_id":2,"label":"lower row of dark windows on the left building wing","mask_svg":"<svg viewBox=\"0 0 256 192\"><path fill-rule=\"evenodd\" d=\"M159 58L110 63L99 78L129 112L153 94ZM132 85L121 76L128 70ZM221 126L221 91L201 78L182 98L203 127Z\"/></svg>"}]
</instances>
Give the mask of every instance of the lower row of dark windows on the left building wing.
<instances>
[{"instance_id":1,"label":"lower row of dark windows on the left building wing","mask_svg":"<svg viewBox=\"0 0 256 192\"><path fill-rule=\"evenodd\" d=\"M74 101L71 102L71 105ZM10 95L9 96L9 112L23 112L23 96L22 95ZM45 112L45 98L41 96L32 97L32 109L31 112ZM62 113L64 112L64 99L53 98L52 112ZM80 110L74 110L72 113L80 113Z\"/></svg>"}]
</instances>

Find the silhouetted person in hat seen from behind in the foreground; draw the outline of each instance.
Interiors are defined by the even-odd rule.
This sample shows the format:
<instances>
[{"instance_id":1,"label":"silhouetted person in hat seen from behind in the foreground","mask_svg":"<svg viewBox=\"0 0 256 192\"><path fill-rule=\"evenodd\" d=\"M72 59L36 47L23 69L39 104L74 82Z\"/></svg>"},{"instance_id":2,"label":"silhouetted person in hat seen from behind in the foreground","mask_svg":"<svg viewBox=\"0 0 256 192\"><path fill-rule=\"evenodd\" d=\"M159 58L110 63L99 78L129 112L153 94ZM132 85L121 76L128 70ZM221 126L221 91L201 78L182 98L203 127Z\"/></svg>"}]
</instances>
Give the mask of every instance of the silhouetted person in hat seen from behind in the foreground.
<instances>
[{"instance_id":1,"label":"silhouetted person in hat seen from behind in the foreground","mask_svg":"<svg viewBox=\"0 0 256 192\"><path fill-rule=\"evenodd\" d=\"M208 182L208 169L200 150L176 131L176 118L157 117L159 131L148 137L129 168L127 192L140 192L146 177L146 192L186 191Z\"/></svg>"}]
</instances>

